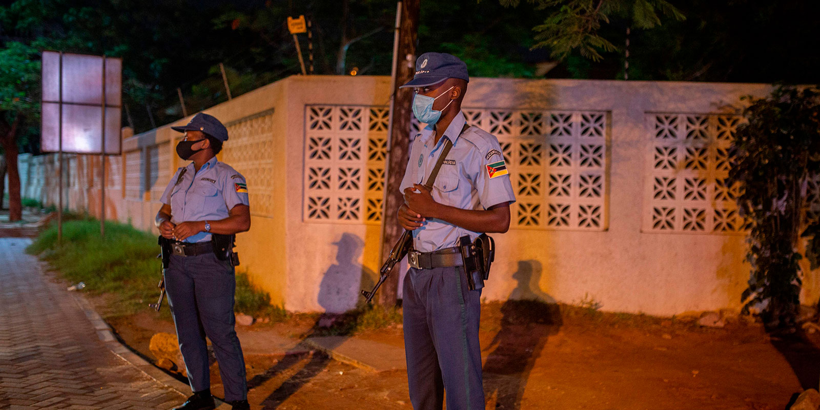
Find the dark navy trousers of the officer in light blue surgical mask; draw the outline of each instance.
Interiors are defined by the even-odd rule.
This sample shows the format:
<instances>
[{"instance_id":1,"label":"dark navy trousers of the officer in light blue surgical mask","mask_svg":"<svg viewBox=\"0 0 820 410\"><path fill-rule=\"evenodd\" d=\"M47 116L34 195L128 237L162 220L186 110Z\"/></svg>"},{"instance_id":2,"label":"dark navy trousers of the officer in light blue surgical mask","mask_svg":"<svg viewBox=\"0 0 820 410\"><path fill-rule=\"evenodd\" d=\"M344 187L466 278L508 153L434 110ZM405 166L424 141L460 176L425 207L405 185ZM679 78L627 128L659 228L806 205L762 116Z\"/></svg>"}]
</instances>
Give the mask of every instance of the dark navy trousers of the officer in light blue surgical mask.
<instances>
[{"instance_id":1,"label":"dark navy trousers of the officer in light blue surgical mask","mask_svg":"<svg viewBox=\"0 0 820 410\"><path fill-rule=\"evenodd\" d=\"M483 410L478 324L481 289L461 266L410 268L402 310L410 401L415 410Z\"/></svg>"}]
</instances>

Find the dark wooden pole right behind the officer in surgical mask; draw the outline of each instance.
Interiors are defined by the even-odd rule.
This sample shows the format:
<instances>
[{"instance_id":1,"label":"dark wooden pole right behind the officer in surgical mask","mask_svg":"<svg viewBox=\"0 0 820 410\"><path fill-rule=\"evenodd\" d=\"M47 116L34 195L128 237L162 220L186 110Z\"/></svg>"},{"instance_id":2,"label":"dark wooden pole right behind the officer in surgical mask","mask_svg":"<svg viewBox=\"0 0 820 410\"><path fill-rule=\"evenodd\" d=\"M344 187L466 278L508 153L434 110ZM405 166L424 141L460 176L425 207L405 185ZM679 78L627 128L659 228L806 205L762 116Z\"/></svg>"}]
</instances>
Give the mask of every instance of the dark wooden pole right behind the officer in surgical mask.
<instances>
[{"instance_id":1,"label":"dark wooden pole right behind the officer in surgical mask","mask_svg":"<svg viewBox=\"0 0 820 410\"><path fill-rule=\"evenodd\" d=\"M410 116L412 116L412 89L399 89L399 85L412 79L416 69L416 43L418 34L419 0L402 2L399 49L396 59L396 83L394 84L393 116L390 124L390 145L385 184L385 217L382 224L381 260L385 261L390 249L399 240L404 229L396 221L396 210L404 202L399 190L405 168L408 165ZM399 272L390 275L380 289L379 303L395 306L399 291Z\"/></svg>"}]
</instances>

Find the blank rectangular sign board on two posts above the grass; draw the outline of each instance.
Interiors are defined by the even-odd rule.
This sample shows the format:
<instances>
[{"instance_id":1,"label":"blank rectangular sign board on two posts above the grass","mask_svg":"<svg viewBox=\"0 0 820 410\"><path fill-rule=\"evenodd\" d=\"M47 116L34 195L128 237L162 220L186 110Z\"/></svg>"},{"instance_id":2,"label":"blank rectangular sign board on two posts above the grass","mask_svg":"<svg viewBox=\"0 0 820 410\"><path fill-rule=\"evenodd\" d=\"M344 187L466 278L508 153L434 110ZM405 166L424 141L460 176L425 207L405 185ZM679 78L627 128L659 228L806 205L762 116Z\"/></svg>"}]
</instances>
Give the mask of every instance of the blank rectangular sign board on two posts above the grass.
<instances>
[{"instance_id":1,"label":"blank rectangular sign board on two posts above the grass","mask_svg":"<svg viewBox=\"0 0 820 410\"><path fill-rule=\"evenodd\" d=\"M121 58L43 52L41 150L119 154L121 89Z\"/></svg>"}]
</instances>

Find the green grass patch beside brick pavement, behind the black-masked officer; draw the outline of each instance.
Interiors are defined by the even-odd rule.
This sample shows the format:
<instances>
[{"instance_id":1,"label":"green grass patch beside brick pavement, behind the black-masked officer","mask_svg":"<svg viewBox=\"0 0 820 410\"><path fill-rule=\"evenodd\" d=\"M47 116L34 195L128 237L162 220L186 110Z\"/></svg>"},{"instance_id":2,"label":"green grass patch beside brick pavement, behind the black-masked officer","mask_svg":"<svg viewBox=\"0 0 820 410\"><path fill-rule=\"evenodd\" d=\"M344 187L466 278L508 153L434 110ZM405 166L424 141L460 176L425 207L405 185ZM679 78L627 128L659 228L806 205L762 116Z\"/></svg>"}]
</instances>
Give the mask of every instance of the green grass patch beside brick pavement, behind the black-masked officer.
<instances>
[{"instance_id":1,"label":"green grass patch beside brick pavement, behind the black-masked officer","mask_svg":"<svg viewBox=\"0 0 820 410\"><path fill-rule=\"evenodd\" d=\"M48 261L66 280L84 282L84 292L111 294L116 316L146 311L148 303L156 302L159 296L157 237L112 221L106 221L105 239L99 231L99 221L87 216L64 221L62 244L57 244L57 226L52 225L34 239L26 252ZM250 285L244 272L236 275L235 311L277 321L287 317L283 309L271 306L268 294ZM162 317L170 319L167 308L161 312Z\"/></svg>"}]
</instances>

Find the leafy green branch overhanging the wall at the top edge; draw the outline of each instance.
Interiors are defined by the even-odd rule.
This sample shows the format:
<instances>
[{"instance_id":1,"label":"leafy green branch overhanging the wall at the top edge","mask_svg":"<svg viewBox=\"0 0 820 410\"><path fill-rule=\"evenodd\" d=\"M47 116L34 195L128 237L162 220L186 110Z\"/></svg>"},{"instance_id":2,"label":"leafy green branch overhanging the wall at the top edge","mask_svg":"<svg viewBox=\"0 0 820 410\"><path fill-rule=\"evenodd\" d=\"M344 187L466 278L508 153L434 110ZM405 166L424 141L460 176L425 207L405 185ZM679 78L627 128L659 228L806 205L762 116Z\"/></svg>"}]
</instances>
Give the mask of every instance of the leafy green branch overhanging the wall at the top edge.
<instances>
[{"instance_id":1,"label":"leafy green branch overhanging the wall at the top edge","mask_svg":"<svg viewBox=\"0 0 820 410\"><path fill-rule=\"evenodd\" d=\"M504 6L517 7L521 0L499 0ZM661 16L677 21L686 20L683 13L664 0L528 0L536 9L548 13L546 20L536 25L535 48L549 48L552 56L566 59L577 49L581 56L594 62L603 57L600 52L618 48L599 34L601 25L613 17L631 18L639 29L661 25Z\"/></svg>"}]
</instances>

